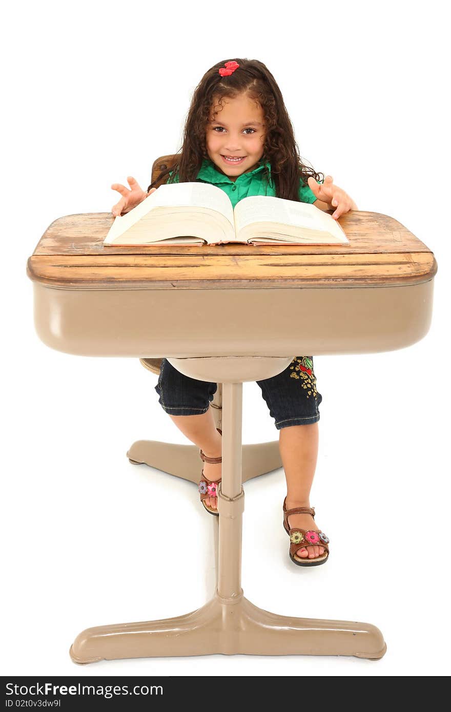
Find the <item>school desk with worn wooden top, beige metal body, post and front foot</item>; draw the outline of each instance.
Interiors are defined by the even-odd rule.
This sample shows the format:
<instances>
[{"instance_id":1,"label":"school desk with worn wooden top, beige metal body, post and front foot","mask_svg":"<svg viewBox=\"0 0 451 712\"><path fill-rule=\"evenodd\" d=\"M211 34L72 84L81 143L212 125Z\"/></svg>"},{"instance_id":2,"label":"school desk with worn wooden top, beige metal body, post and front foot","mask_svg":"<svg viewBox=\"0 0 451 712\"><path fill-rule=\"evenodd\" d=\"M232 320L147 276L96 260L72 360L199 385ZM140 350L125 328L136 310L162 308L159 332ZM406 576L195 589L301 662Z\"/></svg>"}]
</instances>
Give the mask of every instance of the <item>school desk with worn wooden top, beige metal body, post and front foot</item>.
<instances>
[{"instance_id":1,"label":"school desk with worn wooden top, beige metal body, post and front foot","mask_svg":"<svg viewBox=\"0 0 451 712\"><path fill-rule=\"evenodd\" d=\"M243 596L242 382L275 375L299 354L381 352L420 340L432 313L433 254L395 219L366 211L341 217L349 245L322 247L104 247L112 221L110 213L69 215L46 230L28 259L36 330L56 350L168 357L188 375L222 384L219 582L213 599L185 616L85 630L72 659L380 659L385 642L371 624L284 617ZM197 464L187 461L183 476L198 481L198 450L186 447Z\"/></svg>"}]
</instances>

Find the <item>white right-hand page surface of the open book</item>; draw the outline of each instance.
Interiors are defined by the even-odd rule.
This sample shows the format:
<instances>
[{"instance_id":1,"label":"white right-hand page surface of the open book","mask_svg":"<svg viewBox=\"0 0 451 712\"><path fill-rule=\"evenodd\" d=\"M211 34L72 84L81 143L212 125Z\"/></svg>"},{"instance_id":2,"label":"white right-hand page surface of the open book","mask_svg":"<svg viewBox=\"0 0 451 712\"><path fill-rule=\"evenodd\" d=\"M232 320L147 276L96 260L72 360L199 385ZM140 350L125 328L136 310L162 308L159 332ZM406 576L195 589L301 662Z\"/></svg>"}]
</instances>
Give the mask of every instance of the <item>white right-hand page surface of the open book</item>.
<instances>
[{"instance_id":1,"label":"white right-hand page surface of the open book","mask_svg":"<svg viewBox=\"0 0 451 712\"><path fill-rule=\"evenodd\" d=\"M240 231L254 223L279 223L295 230L315 231L316 241L323 231L324 242L330 239L330 235L333 235L337 242L349 242L338 222L311 203L257 195L239 201L234 214L237 239L240 239ZM290 232L292 234L293 231Z\"/></svg>"}]
</instances>

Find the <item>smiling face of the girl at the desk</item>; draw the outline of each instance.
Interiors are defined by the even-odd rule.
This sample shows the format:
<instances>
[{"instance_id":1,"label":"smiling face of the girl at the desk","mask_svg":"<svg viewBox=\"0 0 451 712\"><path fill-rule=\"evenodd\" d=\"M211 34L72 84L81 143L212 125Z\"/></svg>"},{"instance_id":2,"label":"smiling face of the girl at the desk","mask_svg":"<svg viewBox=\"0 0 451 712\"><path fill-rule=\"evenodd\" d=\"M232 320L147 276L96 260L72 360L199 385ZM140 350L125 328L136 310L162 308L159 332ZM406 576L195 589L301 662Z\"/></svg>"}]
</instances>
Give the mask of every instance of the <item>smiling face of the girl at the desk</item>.
<instances>
[{"instance_id":1,"label":"smiling face of the girl at the desk","mask_svg":"<svg viewBox=\"0 0 451 712\"><path fill-rule=\"evenodd\" d=\"M207 153L214 165L235 181L257 167L264 151L264 114L261 105L241 94L235 99L215 98L207 124ZM239 161L228 161L237 157Z\"/></svg>"}]
</instances>

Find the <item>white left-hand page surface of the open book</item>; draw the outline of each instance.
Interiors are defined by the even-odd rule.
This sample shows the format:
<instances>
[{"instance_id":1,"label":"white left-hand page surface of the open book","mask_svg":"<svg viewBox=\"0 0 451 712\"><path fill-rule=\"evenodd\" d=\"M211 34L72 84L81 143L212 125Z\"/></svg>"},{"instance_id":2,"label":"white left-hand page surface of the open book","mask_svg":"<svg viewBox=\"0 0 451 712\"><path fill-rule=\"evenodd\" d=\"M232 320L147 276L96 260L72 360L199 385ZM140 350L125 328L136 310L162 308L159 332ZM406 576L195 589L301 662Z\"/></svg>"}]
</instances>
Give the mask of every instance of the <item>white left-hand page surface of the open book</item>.
<instances>
[{"instance_id":1,"label":"white left-hand page surface of the open book","mask_svg":"<svg viewBox=\"0 0 451 712\"><path fill-rule=\"evenodd\" d=\"M199 207L214 210L222 214L231 224L233 231L234 212L229 196L215 185L207 183L172 183L160 185L149 197L137 205L125 215L120 215L113 221L105 243L115 241L125 231L129 230L135 223L144 218L150 211L157 208L167 207L187 207L194 209ZM155 210L156 213L160 212Z\"/></svg>"}]
</instances>

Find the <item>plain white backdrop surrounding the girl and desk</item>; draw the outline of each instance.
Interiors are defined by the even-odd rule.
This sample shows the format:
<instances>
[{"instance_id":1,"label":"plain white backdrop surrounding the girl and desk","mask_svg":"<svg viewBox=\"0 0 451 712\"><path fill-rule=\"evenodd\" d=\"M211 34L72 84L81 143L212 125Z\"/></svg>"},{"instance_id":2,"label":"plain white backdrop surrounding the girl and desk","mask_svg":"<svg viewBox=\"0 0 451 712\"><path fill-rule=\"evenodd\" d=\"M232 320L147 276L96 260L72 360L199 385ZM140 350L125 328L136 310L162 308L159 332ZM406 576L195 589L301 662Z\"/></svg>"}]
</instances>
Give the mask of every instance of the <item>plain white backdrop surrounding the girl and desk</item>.
<instances>
[{"instance_id":1,"label":"plain white backdrop surrounding the girl and desk","mask_svg":"<svg viewBox=\"0 0 451 712\"><path fill-rule=\"evenodd\" d=\"M445 674L444 6L9 4L1 41L3 674ZM218 655L76 666L68 649L86 627L172 617L212 597L213 521L195 485L125 456L136 439L187 443L157 402L157 377L136 359L81 358L43 345L26 260L58 217L110 210L111 183L132 174L147 187L155 158L180 146L202 74L235 57L257 58L274 74L304 159L331 174L359 209L400 221L437 258L423 340L395 352L315 359L323 402L311 505L331 538L328 563L304 570L289 560L282 470L245 486L244 595L276 613L373 623L388 650L377 663ZM255 383L244 385L243 419L244 443L278 435Z\"/></svg>"}]
</instances>

